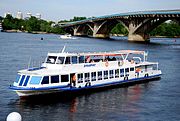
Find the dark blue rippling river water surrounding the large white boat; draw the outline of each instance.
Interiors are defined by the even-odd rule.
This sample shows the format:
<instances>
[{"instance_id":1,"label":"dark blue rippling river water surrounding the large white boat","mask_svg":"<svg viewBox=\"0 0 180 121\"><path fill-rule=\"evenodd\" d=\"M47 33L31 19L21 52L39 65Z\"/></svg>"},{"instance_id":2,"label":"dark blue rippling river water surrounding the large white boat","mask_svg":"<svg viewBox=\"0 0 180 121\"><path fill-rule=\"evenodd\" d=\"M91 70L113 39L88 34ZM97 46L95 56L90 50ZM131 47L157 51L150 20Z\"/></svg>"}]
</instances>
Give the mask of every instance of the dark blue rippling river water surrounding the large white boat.
<instances>
[{"instance_id":1,"label":"dark blue rippling river water surrounding the large white boat","mask_svg":"<svg viewBox=\"0 0 180 121\"><path fill-rule=\"evenodd\" d=\"M43 40L40 38L43 37ZM55 34L0 33L0 121L19 112L23 121L179 121L180 39L152 38L151 43L113 39L60 40ZM37 65L48 52L145 50L158 61L162 78L129 87L77 95L69 99L27 101L8 89L19 69Z\"/></svg>"}]
</instances>

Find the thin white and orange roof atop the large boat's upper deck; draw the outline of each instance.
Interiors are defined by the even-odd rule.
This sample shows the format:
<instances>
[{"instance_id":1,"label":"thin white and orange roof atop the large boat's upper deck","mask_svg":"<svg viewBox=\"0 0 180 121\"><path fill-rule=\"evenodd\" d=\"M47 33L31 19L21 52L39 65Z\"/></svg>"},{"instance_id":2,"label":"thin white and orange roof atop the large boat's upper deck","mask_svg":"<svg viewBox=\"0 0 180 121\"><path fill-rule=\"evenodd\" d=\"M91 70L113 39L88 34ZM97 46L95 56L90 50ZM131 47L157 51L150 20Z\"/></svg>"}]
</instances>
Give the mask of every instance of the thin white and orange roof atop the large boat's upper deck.
<instances>
[{"instance_id":1,"label":"thin white and orange roof atop the large boat's upper deck","mask_svg":"<svg viewBox=\"0 0 180 121\"><path fill-rule=\"evenodd\" d=\"M119 50L111 52L87 52L87 53L48 53L48 56L116 56L116 55L125 55L125 54L144 54L145 51L139 50Z\"/></svg>"}]
</instances>

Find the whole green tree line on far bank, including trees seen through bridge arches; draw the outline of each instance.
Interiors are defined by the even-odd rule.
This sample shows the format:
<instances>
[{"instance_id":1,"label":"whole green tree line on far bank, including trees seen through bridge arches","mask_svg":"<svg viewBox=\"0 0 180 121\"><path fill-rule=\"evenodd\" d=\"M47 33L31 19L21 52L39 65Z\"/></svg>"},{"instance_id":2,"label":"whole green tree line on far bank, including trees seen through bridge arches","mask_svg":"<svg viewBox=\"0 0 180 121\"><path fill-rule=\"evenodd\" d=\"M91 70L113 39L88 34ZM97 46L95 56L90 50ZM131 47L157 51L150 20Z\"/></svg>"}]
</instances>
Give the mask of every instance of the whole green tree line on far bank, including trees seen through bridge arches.
<instances>
[{"instance_id":1,"label":"whole green tree line on far bank, including trees seen through bridge arches","mask_svg":"<svg viewBox=\"0 0 180 121\"><path fill-rule=\"evenodd\" d=\"M58 23L72 22L87 19L86 17L74 17L70 20L61 20ZM2 21L2 27L4 30L20 30L27 32L47 32L47 33L66 33L62 28L55 25L53 21L46 21L42 19L37 19L31 16L28 19L17 19L13 18L11 15L7 15L5 18L0 16L0 21ZM127 36L127 29L121 24L117 24L110 32L111 34L122 34ZM174 21L165 22L159 25L157 28L149 32L151 36L168 36L175 37L180 36L180 25Z\"/></svg>"}]
</instances>

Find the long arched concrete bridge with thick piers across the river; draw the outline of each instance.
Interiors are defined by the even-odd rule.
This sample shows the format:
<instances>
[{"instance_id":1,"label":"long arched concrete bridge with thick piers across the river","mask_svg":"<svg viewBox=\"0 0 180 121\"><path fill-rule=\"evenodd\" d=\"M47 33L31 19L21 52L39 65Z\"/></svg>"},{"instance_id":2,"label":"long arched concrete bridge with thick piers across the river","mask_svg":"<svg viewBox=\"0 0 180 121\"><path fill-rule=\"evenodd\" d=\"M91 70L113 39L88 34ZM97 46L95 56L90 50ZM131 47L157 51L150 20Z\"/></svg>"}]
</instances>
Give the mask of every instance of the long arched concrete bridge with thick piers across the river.
<instances>
[{"instance_id":1,"label":"long arched concrete bridge with thick piers across the river","mask_svg":"<svg viewBox=\"0 0 180 121\"><path fill-rule=\"evenodd\" d=\"M81 21L60 24L74 36L108 38L116 24L121 23L128 30L129 41L149 41L149 32L161 23L173 20L180 25L180 10L138 11L92 17Z\"/></svg>"}]
</instances>

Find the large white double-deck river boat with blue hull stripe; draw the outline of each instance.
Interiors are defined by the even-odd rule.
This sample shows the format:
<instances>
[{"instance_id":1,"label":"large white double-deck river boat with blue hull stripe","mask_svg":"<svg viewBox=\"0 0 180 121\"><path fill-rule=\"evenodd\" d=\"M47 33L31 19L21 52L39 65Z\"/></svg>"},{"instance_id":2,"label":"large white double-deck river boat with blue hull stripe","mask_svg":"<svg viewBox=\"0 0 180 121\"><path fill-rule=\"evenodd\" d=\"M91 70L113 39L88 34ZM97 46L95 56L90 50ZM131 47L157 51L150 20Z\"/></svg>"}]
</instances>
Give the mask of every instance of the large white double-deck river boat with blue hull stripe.
<instances>
[{"instance_id":1,"label":"large white double-deck river boat with blue hull stripe","mask_svg":"<svg viewBox=\"0 0 180 121\"><path fill-rule=\"evenodd\" d=\"M18 71L10 89L20 97L97 89L160 78L147 52L48 53L40 67Z\"/></svg>"}]
</instances>

